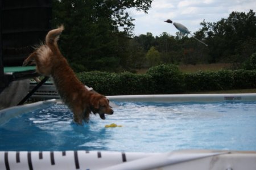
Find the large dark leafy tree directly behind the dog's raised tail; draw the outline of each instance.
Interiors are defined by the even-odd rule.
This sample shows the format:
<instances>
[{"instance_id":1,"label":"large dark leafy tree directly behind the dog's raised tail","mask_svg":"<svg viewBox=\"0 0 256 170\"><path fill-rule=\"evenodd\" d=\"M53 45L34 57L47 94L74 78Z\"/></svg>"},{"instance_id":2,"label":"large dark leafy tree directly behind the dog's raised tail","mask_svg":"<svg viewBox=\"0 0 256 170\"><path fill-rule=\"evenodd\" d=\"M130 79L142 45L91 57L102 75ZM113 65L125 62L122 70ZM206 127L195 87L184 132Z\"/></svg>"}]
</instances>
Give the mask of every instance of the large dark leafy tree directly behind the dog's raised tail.
<instances>
[{"instance_id":1,"label":"large dark leafy tree directly behind the dog's raised tail","mask_svg":"<svg viewBox=\"0 0 256 170\"><path fill-rule=\"evenodd\" d=\"M53 0L52 25L65 27L60 37L61 51L72 65L82 65L87 70L114 70L122 61L125 43L129 43L125 37L130 37L134 28L127 8L147 12L151 2Z\"/></svg>"}]
</instances>

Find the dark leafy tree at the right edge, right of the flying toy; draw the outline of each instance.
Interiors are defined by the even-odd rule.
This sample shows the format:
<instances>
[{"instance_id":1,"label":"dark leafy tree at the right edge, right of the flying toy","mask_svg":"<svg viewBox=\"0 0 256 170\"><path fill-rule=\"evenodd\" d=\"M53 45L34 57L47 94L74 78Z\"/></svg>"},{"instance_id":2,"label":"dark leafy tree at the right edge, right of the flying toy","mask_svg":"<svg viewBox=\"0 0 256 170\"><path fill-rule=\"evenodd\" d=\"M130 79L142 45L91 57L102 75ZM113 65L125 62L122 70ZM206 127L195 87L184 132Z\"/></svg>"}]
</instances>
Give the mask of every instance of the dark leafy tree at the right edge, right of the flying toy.
<instances>
[{"instance_id":1,"label":"dark leafy tree at the right edge, right of the flying toy","mask_svg":"<svg viewBox=\"0 0 256 170\"><path fill-rule=\"evenodd\" d=\"M200 23L203 28L199 32L206 36L209 49L209 62L234 62L241 61L242 44L250 39L250 44L256 39L256 15L253 10L247 12L233 11L227 19L221 19L216 23L207 23L205 20ZM243 56L243 61L249 58L250 54ZM237 57L235 57L237 56ZM244 58L245 57L245 58Z\"/></svg>"}]
</instances>

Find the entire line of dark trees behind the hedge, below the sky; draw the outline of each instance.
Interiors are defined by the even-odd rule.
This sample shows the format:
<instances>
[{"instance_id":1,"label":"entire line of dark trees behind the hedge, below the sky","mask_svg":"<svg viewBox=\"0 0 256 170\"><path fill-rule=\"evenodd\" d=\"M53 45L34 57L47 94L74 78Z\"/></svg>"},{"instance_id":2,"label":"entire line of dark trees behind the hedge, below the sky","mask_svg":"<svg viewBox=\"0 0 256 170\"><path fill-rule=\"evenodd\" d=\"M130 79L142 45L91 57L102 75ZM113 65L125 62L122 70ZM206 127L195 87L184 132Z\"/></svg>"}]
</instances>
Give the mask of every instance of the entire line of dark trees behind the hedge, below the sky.
<instances>
[{"instance_id":1,"label":"entire line of dark trees behind the hedge, below the sky","mask_svg":"<svg viewBox=\"0 0 256 170\"><path fill-rule=\"evenodd\" d=\"M147 32L133 36L128 8L147 13L152 0L53 0L53 27L64 24L60 49L76 72L122 71L160 63L234 63L240 67L256 52L256 15L233 11L226 19L201 22L191 36Z\"/></svg>"}]
</instances>

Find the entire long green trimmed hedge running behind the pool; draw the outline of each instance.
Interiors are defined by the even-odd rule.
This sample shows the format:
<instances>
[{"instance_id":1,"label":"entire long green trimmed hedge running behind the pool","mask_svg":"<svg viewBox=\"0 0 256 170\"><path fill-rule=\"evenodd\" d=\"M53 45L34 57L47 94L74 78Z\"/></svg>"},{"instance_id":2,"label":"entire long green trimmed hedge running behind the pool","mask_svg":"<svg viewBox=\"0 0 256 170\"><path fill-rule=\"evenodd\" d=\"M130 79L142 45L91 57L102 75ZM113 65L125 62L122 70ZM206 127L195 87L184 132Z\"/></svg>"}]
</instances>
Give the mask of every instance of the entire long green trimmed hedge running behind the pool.
<instances>
[{"instance_id":1,"label":"entire long green trimmed hedge running behind the pool","mask_svg":"<svg viewBox=\"0 0 256 170\"><path fill-rule=\"evenodd\" d=\"M175 65L151 67L146 74L77 74L82 83L104 95L180 94L214 90L256 88L256 70L198 71L184 74Z\"/></svg>"}]
</instances>

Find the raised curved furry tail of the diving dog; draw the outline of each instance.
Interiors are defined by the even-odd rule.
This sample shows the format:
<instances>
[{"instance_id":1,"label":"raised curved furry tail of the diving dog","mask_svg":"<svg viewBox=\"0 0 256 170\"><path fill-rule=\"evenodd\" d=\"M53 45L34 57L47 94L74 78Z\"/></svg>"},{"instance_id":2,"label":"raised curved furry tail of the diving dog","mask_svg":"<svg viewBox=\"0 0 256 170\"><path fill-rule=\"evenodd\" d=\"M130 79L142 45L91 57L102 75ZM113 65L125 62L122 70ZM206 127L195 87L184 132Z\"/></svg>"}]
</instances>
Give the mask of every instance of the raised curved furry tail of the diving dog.
<instances>
[{"instance_id":1,"label":"raised curved furry tail of the diving dog","mask_svg":"<svg viewBox=\"0 0 256 170\"><path fill-rule=\"evenodd\" d=\"M46 35L46 45L52 50L53 53L60 52L57 41L59 40L61 32L64 30L64 26L60 25L59 28L52 29Z\"/></svg>"}]
</instances>

